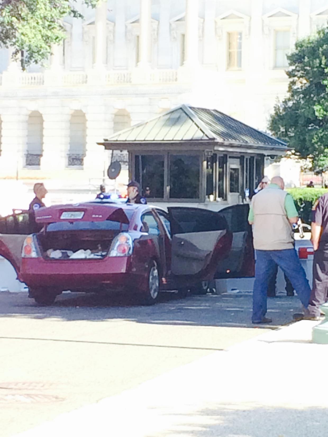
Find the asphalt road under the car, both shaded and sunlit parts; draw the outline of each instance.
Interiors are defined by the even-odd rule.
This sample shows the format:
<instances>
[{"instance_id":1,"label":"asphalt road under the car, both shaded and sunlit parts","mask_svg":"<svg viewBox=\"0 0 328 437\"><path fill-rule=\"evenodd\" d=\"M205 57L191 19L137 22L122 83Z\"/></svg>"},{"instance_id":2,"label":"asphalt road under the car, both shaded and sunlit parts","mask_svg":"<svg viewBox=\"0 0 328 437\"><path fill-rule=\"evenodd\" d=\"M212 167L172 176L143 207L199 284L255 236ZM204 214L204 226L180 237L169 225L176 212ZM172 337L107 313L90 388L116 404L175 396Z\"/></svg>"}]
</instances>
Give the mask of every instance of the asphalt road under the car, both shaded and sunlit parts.
<instances>
[{"instance_id":1,"label":"asphalt road under the car, both shaded and sunlit parts","mask_svg":"<svg viewBox=\"0 0 328 437\"><path fill-rule=\"evenodd\" d=\"M269 299L276 325L297 298ZM251 295L163 295L152 307L129 296L65 294L38 307L25 293L0 293L0 436L135 387L262 333ZM199 378L199 375L195 375ZM191 381L192 383L192 381Z\"/></svg>"}]
</instances>

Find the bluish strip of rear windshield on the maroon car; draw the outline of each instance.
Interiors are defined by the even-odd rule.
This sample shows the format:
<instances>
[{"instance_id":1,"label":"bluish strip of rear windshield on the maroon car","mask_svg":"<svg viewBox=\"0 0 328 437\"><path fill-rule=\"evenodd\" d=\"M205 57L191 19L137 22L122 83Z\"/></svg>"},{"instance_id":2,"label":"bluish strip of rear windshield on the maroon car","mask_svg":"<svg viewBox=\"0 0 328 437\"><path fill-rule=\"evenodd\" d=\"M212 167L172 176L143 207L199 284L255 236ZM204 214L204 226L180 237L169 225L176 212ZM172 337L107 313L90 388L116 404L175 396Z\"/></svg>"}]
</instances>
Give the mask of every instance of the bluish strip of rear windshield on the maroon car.
<instances>
[{"instance_id":1,"label":"bluish strip of rear windshield on the maroon car","mask_svg":"<svg viewBox=\"0 0 328 437\"><path fill-rule=\"evenodd\" d=\"M47 226L47 232L52 231L127 231L129 225L105 220L104 222L57 222Z\"/></svg>"}]
</instances>

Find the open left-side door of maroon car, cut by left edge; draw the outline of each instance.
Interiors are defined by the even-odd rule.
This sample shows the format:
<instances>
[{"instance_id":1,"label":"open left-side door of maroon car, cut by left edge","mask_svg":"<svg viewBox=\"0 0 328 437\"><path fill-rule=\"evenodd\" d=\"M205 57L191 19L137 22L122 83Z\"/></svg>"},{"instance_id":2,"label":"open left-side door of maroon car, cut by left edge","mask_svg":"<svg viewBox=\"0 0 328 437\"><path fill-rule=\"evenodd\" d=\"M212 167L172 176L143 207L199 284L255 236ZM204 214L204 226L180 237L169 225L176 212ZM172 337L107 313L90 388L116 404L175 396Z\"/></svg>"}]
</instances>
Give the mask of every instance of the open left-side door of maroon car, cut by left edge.
<instances>
[{"instance_id":1,"label":"open left-side door of maroon car, cut by left edge","mask_svg":"<svg viewBox=\"0 0 328 437\"><path fill-rule=\"evenodd\" d=\"M14 210L12 215L0 218L0 255L12 264L18 279L21 272L22 247L29 233L28 211Z\"/></svg>"}]
</instances>

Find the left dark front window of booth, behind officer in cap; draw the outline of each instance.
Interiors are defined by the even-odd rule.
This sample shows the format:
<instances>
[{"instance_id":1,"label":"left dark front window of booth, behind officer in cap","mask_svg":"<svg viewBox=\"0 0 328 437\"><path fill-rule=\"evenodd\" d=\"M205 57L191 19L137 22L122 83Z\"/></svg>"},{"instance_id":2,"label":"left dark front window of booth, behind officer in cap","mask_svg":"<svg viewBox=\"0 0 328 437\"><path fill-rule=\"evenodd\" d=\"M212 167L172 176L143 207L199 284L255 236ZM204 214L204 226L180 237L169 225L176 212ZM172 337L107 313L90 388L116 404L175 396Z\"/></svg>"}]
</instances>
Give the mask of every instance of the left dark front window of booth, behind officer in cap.
<instances>
[{"instance_id":1,"label":"left dark front window of booth, behind officer in cap","mask_svg":"<svg viewBox=\"0 0 328 437\"><path fill-rule=\"evenodd\" d=\"M151 198L164 198L164 155L136 155L135 178L142 193L150 188Z\"/></svg>"}]
</instances>

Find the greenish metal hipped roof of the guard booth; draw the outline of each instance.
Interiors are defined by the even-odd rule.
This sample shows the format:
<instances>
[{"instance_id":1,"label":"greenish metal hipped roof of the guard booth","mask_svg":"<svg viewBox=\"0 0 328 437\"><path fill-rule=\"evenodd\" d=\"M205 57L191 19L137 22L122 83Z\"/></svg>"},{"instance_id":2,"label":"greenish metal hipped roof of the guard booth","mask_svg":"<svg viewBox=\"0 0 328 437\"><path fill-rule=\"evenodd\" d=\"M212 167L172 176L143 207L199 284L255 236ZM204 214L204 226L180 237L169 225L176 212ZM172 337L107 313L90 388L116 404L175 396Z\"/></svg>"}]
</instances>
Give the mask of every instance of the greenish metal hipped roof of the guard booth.
<instances>
[{"instance_id":1,"label":"greenish metal hipped roof of the guard booth","mask_svg":"<svg viewBox=\"0 0 328 437\"><path fill-rule=\"evenodd\" d=\"M117 132L106 143L202 142L286 150L285 142L245 125L216 109L182 104L150 121Z\"/></svg>"}]
</instances>

